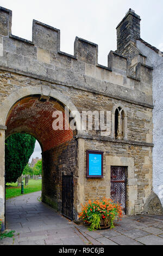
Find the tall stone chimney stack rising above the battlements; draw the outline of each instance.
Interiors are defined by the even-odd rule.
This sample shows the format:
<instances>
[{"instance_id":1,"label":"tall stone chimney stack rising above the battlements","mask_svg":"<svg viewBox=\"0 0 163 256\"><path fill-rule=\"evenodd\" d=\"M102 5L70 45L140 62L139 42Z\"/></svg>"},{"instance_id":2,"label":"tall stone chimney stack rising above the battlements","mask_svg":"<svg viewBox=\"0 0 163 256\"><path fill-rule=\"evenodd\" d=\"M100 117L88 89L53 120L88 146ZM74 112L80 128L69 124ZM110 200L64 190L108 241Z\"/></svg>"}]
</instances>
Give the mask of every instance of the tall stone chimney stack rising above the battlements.
<instances>
[{"instance_id":1,"label":"tall stone chimney stack rising above the battlements","mask_svg":"<svg viewBox=\"0 0 163 256\"><path fill-rule=\"evenodd\" d=\"M117 26L117 52L122 53L128 43L136 46L136 39L140 38L140 16L129 9L126 16Z\"/></svg>"}]
</instances>

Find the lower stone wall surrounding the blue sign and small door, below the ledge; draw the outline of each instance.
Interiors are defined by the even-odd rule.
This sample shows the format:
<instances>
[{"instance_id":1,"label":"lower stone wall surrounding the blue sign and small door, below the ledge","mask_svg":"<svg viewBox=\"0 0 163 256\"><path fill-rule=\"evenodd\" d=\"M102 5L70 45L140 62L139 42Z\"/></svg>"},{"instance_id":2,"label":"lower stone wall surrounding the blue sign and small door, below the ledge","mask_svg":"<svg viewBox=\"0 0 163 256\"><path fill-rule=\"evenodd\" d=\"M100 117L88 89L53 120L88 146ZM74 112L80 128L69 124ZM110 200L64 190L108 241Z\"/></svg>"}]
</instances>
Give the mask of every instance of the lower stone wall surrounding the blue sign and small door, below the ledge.
<instances>
[{"instance_id":1,"label":"lower stone wall surrounding the blue sign and small door, below the ledge","mask_svg":"<svg viewBox=\"0 0 163 256\"><path fill-rule=\"evenodd\" d=\"M86 178L85 165L85 200L94 200L97 194L110 197L110 166L129 166L127 175L127 213L129 215L142 213L146 199L152 192L152 148L147 146L110 143L107 141L86 140L86 150L101 150L104 152L104 177L100 179ZM109 164L109 158L115 158ZM118 161L120 159L120 161ZM130 161L133 162L130 168ZM86 162L85 162L86 163Z\"/></svg>"}]
</instances>

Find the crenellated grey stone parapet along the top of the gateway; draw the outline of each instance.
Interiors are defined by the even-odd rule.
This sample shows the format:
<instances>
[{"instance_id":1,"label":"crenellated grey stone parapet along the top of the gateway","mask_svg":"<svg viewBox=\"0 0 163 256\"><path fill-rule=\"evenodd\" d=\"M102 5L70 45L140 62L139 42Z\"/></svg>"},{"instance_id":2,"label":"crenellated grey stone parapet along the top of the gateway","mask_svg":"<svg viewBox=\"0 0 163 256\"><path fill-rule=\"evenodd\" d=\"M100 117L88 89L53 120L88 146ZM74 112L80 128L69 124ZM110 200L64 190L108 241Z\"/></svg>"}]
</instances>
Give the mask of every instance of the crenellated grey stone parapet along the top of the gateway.
<instances>
[{"instance_id":1,"label":"crenellated grey stone parapet along the top of the gateway","mask_svg":"<svg viewBox=\"0 0 163 256\"><path fill-rule=\"evenodd\" d=\"M122 53L110 51L105 67L98 64L97 44L76 37L70 55L60 51L59 29L33 20L29 41L11 34L11 19L12 11L0 7L1 69L152 107L152 67L140 52L131 74Z\"/></svg>"}]
</instances>

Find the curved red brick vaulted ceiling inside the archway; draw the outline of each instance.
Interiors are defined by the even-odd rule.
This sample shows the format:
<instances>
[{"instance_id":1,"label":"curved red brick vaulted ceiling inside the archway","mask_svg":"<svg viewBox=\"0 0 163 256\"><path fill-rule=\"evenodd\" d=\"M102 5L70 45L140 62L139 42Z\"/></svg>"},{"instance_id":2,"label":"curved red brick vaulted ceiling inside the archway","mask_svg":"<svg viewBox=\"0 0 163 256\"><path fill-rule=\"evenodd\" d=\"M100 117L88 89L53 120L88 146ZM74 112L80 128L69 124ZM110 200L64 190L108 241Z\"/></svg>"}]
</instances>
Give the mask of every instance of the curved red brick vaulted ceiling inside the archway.
<instances>
[{"instance_id":1,"label":"curved red brick vaulted ceiling inside the archway","mask_svg":"<svg viewBox=\"0 0 163 256\"><path fill-rule=\"evenodd\" d=\"M17 132L29 133L40 142L43 152L71 140L73 137L71 129L53 129L52 114L56 110L62 111L64 116L64 106L53 98L45 102L40 100L40 96L19 100L12 106L7 117L7 137Z\"/></svg>"}]
</instances>

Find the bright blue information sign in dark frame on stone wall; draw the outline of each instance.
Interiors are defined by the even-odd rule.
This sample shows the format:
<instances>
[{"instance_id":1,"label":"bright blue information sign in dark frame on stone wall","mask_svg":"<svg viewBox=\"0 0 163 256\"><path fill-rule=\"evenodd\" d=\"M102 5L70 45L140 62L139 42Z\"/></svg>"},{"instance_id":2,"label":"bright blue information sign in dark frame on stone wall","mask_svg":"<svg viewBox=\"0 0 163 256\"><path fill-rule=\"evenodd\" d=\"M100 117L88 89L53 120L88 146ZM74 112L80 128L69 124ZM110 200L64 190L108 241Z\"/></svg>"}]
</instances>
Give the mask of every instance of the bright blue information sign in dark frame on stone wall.
<instances>
[{"instance_id":1,"label":"bright blue information sign in dark frame on stone wall","mask_svg":"<svg viewBox=\"0 0 163 256\"><path fill-rule=\"evenodd\" d=\"M103 177L103 152L87 150L87 177Z\"/></svg>"}]
</instances>

